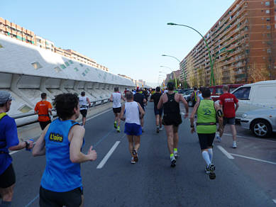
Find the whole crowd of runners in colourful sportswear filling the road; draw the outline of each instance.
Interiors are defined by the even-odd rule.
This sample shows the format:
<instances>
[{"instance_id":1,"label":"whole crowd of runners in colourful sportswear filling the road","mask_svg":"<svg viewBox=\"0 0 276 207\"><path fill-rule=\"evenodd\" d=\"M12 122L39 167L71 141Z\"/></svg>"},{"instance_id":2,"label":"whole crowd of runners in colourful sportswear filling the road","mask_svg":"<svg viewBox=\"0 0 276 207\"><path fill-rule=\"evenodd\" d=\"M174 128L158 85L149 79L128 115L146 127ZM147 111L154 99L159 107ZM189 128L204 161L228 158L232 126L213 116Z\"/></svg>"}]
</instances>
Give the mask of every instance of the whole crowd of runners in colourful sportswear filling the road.
<instances>
[{"instance_id":1,"label":"whole crowd of runners in colourful sportswear filling the road","mask_svg":"<svg viewBox=\"0 0 276 207\"><path fill-rule=\"evenodd\" d=\"M167 135L168 155L170 166L175 167L178 153L178 130L182 123L180 102L184 105L184 118L190 119L191 133L197 133L202 157L206 162L204 167L210 179L215 179L215 165L212 162L213 142L216 137L221 141L223 127L231 125L233 132L233 148L236 148L235 111L238 99L228 93L228 86L223 86L223 95L219 104L211 100L209 88L201 87L199 93L194 91L196 104L189 116L187 101L181 94L175 92L174 84L168 83L167 89L126 89L121 93L114 88L110 101L113 102L114 128L121 132L120 123L124 121L124 133L128 139L128 150L131 154L131 164L138 162L140 136L144 129L144 116L148 101L153 102L154 110L147 111L155 116L156 133L163 127ZM16 123L8 116L13 100L7 91L0 91L0 195L1 206L11 206L13 188L16 176L13 170L12 158L9 150L33 149L33 156L46 157L46 166L40 182L40 206L82 206L82 177L80 163L96 160L96 151L91 146L85 154L84 125L87 110L91 106L85 92L78 97L76 94L60 94L55 97L53 106L57 118L53 120L52 104L47 101L47 95L41 94L41 101L35 106L38 121L43 132L34 142L27 140L19 142ZM123 101L126 101L122 104ZM82 114L82 125L77 118ZM150 116L150 115L149 115ZM146 133L146 132L145 132ZM168 156L169 157L169 156Z\"/></svg>"}]
</instances>

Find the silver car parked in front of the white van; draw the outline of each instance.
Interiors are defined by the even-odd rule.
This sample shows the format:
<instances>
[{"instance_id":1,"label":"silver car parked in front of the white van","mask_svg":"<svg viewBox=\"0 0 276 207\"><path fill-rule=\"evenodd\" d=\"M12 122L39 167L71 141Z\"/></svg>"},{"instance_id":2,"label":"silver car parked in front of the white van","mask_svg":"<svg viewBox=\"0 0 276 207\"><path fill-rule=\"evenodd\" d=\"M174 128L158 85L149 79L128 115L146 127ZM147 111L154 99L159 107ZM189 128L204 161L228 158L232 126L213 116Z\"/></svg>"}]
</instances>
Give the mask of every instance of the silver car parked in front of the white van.
<instances>
[{"instance_id":1,"label":"silver car parked in front of the white van","mask_svg":"<svg viewBox=\"0 0 276 207\"><path fill-rule=\"evenodd\" d=\"M259 138L265 138L276 132L276 110L253 110L243 114L241 126L249 129Z\"/></svg>"}]
</instances>

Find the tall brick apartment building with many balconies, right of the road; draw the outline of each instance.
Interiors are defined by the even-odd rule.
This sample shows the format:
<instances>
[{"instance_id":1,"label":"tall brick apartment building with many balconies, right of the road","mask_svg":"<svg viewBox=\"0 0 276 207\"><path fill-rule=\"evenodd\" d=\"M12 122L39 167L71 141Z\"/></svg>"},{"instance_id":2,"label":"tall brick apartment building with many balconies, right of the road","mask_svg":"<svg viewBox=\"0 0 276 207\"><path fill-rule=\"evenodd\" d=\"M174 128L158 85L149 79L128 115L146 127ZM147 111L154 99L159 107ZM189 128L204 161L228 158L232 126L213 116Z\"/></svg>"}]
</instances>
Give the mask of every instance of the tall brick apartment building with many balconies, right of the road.
<instances>
[{"instance_id":1,"label":"tall brick apartment building with many balconies, right of the road","mask_svg":"<svg viewBox=\"0 0 276 207\"><path fill-rule=\"evenodd\" d=\"M236 0L184 57L180 68L190 86L275 79L276 0ZM206 47L209 46L209 51Z\"/></svg>"}]
</instances>

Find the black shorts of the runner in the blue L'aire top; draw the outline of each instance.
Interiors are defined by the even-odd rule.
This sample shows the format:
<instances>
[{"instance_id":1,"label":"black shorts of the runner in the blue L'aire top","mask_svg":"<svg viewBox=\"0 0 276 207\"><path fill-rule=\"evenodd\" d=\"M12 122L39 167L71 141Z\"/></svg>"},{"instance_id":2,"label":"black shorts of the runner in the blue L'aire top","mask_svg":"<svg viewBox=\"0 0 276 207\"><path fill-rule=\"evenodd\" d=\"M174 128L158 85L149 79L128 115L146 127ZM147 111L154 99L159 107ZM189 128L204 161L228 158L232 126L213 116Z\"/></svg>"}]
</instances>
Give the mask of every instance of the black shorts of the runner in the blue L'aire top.
<instances>
[{"instance_id":1,"label":"black shorts of the runner in the blue L'aire top","mask_svg":"<svg viewBox=\"0 0 276 207\"><path fill-rule=\"evenodd\" d=\"M67 192L54 192L47 189L43 189L40 186L39 189L39 206L40 207L76 207L82 204L83 191L81 188L74 189Z\"/></svg>"}]
</instances>

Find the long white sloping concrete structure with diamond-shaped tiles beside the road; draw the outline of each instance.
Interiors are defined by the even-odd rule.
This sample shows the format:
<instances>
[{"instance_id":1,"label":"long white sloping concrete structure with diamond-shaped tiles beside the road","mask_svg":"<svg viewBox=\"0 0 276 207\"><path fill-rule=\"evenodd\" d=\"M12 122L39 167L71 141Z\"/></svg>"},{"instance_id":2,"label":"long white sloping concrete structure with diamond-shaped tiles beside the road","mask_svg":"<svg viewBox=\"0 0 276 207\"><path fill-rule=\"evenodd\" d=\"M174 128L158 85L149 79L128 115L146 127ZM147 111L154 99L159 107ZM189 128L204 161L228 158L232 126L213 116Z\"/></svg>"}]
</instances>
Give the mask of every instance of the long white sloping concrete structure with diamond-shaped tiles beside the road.
<instances>
[{"instance_id":1,"label":"long white sloping concrete structure with diamond-shaped tiles beside the road","mask_svg":"<svg viewBox=\"0 0 276 207\"><path fill-rule=\"evenodd\" d=\"M0 34L0 90L16 99L10 115L33 111L40 94L48 100L60 93L86 91L92 101L109 98L114 86L134 87L130 79L70 60L50 50Z\"/></svg>"}]
</instances>

